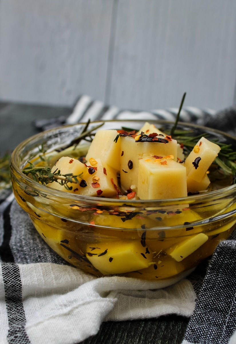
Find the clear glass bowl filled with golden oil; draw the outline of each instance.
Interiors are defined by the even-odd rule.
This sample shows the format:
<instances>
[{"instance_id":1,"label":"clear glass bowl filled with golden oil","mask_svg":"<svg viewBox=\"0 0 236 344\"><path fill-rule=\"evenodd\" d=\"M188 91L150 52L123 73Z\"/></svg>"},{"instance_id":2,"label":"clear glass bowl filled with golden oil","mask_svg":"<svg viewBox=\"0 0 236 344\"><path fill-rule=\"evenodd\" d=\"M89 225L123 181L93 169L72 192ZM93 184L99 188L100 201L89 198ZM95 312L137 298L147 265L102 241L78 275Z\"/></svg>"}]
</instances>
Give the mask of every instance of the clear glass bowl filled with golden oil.
<instances>
[{"instance_id":1,"label":"clear glass bowl filled with golden oil","mask_svg":"<svg viewBox=\"0 0 236 344\"><path fill-rule=\"evenodd\" d=\"M162 131L173 126L168 121L150 122ZM140 129L143 124L106 121L103 129ZM170 279L192 271L232 233L236 185L187 198L124 201L58 191L21 172L27 161L40 161L42 147L51 166L63 155L85 154L84 143L76 151L55 151L79 136L83 127L83 123L62 126L25 140L12 153L10 164L17 202L46 243L72 265L96 276ZM208 133L209 139L231 143L236 150L236 139L223 132L187 123L179 123L178 129Z\"/></svg>"}]
</instances>

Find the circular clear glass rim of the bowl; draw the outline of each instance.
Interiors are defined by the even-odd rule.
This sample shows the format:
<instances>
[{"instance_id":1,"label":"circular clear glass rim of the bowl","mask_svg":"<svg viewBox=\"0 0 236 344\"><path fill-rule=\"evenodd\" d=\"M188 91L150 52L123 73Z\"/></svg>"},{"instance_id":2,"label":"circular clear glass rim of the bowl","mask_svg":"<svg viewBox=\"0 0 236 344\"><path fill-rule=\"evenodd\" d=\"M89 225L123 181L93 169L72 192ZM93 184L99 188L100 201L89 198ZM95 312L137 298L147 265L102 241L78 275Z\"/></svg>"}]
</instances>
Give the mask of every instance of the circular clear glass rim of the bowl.
<instances>
[{"instance_id":1,"label":"circular clear glass rim of the bowl","mask_svg":"<svg viewBox=\"0 0 236 344\"><path fill-rule=\"evenodd\" d=\"M164 120L164 119L147 119L147 120L142 120L142 119L112 119L112 120L96 120L96 121L91 121L90 122L90 125L93 125L93 124L97 124L97 123L112 123L112 122L118 122L118 123L124 123L124 122L143 122L145 123L146 121L150 122L150 123L156 123L156 124L174 124L175 122L174 121L167 121L167 120ZM29 143L32 143L32 141L35 141L36 139L38 140L40 137L44 137L45 134L46 135L49 135L50 133L54 132L54 131L58 131L60 129L67 129L67 128L72 128L72 127L76 127L76 126L83 126L85 125L86 122L79 122L79 123L74 123L74 124L67 124L67 125L63 125L63 126L58 126L58 127L55 127L55 128L52 128L52 129L48 129L48 130L45 130L45 131L42 131L42 132L39 132L27 139L25 139L24 141L22 141L12 152L11 154L11 158L10 158L10 171L11 171L11 176L12 174L14 174L12 172L12 169L14 169L14 171L20 176L21 180L25 181L26 184L28 186L31 186L33 187L34 189L36 189L37 191L42 191L42 193L45 193L47 192L47 195L51 195L53 197L55 197L55 195L57 195L57 197L59 196L60 198L67 198L68 200L72 200L72 201L75 201L75 200L78 200L78 201L87 201L88 203L106 203L106 204L109 204L109 203L117 203L117 205L121 206L122 204L124 203L127 203L126 206L128 206L129 204L143 204L143 203L147 203L149 205L151 205L152 203L186 203L187 201L189 200L193 200L196 202L196 201L204 201L205 199L209 198L209 197L217 197L217 196L222 196L222 192L224 193L224 196L225 194L227 193L232 193L232 191L234 189L236 189L236 184L232 184L232 185L229 185L227 187L224 187L222 189L219 189L219 190L214 190L214 191L210 191L208 193L205 193L205 194L194 194L194 195L189 195L187 197L177 197L177 198L167 198L167 199L157 199L157 200L122 200L122 199L118 199L118 198L108 198L108 197L93 197L93 196L83 196L83 195L74 195L72 193L69 193L69 192L64 192L64 191L60 191L60 190L56 190L56 189L53 189L51 188L50 186L46 186L46 185L42 185L42 184L39 184L38 182L32 180L31 178L29 178L28 176L26 176L24 173L22 173L22 171L18 168L17 164L16 164L16 161L15 161L15 157L17 155L18 152L21 152L21 150ZM221 136L224 136L224 137L228 137L229 139L235 141L236 143L236 137L224 132L224 131L221 131L221 130L217 130L217 129L213 129L213 128L210 128L210 127L204 127L204 126L200 126L200 125L197 125L195 123L188 123L188 122L181 122L179 121L177 126L178 125L181 125L181 126L187 126L187 127L192 127L192 128L195 128L195 129L199 129L199 130L204 130L204 129L207 129L208 131L211 131L212 133L215 133L215 134L218 134L218 135L221 135ZM98 201L99 200L99 201ZM187 202L188 203L188 202Z\"/></svg>"}]
</instances>

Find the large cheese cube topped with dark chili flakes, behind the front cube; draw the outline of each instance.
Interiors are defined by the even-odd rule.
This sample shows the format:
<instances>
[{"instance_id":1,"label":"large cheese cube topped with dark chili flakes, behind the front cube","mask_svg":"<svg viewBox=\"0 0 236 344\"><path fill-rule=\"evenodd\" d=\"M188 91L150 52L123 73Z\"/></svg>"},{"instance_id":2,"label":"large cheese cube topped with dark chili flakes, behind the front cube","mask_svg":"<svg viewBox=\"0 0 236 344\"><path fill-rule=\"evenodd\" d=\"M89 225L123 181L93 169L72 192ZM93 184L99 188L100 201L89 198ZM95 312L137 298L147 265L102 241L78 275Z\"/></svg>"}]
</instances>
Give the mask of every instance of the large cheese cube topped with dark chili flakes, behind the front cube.
<instances>
[{"instance_id":1,"label":"large cheese cube topped with dark chili flakes, behind the front cube","mask_svg":"<svg viewBox=\"0 0 236 344\"><path fill-rule=\"evenodd\" d=\"M120 181L124 190L130 189L131 185L134 185L133 190L137 190L139 159L152 155L162 157L173 155L177 160L176 140L168 143L137 142L132 137L123 136L120 138L120 150Z\"/></svg>"}]
</instances>

